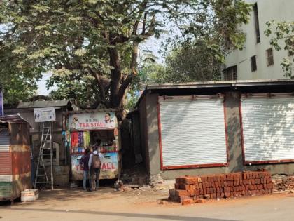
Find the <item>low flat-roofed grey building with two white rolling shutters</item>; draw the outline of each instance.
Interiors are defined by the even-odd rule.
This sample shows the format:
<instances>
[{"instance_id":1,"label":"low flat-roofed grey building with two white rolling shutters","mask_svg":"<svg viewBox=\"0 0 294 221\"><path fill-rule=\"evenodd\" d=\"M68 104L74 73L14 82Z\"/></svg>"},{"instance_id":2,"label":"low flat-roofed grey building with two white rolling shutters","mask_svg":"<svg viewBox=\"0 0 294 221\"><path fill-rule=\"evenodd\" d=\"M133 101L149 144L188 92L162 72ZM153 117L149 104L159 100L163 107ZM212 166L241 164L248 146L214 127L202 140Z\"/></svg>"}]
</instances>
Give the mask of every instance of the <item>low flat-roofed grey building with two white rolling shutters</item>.
<instances>
[{"instance_id":1,"label":"low flat-roofed grey building with two white rolling shutters","mask_svg":"<svg viewBox=\"0 0 294 221\"><path fill-rule=\"evenodd\" d=\"M147 86L139 102L149 175L294 174L294 81Z\"/></svg>"}]
</instances>

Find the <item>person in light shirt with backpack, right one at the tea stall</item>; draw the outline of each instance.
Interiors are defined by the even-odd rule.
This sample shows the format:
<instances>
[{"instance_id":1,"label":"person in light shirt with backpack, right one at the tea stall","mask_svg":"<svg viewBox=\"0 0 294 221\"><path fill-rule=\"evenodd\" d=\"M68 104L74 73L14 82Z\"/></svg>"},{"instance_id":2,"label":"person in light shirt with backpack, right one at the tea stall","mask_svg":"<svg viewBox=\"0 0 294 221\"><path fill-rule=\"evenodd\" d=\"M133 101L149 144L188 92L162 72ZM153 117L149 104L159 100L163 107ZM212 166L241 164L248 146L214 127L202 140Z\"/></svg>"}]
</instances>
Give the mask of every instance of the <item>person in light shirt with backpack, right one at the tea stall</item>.
<instances>
[{"instance_id":1,"label":"person in light shirt with backpack, right one at the tea stall","mask_svg":"<svg viewBox=\"0 0 294 221\"><path fill-rule=\"evenodd\" d=\"M91 178L90 191L92 191L92 187L94 187L95 191L98 190L102 158L104 158L104 156L101 153L99 153L97 149L94 149L94 152L90 154L90 159L89 159L90 178ZM92 181L93 181L93 184L92 184Z\"/></svg>"}]
</instances>

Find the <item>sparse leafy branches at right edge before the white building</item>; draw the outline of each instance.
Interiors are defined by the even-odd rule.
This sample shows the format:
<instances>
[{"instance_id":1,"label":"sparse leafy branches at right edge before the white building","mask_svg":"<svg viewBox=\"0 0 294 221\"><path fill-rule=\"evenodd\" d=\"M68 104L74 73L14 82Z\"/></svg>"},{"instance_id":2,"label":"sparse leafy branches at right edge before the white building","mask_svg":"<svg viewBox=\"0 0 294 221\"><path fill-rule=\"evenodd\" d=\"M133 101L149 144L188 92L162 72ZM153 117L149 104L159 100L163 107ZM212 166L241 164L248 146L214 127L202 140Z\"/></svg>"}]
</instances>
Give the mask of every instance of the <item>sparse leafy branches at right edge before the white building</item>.
<instances>
[{"instance_id":1,"label":"sparse leafy branches at right edge before the white building","mask_svg":"<svg viewBox=\"0 0 294 221\"><path fill-rule=\"evenodd\" d=\"M285 76L294 79L293 62L294 62L294 22L276 22L275 20L266 23L266 36L272 36L269 43L276 51L282 49L288 51L288 56L283 58L281 67L285 72Z\"/></svg>"}]
</instances>

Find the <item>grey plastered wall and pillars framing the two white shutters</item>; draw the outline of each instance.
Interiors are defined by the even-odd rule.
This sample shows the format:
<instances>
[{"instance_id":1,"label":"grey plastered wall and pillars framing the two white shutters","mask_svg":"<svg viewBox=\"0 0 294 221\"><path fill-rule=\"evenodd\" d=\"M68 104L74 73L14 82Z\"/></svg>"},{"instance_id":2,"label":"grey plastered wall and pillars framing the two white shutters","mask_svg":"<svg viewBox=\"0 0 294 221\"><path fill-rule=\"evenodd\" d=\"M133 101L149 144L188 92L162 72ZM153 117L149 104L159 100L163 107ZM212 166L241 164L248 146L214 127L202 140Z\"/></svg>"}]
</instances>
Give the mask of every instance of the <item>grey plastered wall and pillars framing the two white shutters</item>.
<instances>
[{"instance_id":1,"label":"grey plastered wall and pillars framing the two white shutters","mask_svg":"<svg viewBox=\"0 0 294 221\"><path fill-rule=\"evenodd\" d=\"M242 170L257 170L265 168L272 174L294 174L294 163L276 163L255 166L244 166L241 148L241 126L239 116L239 92L230 92L225 94L225 112L226 123L228 126L228 153L229 166L213 167L213 168L190 168L177 170L160 170L160 146L158 135L158 95L147 94L146 104L141 102L139 109L141 119L146 117L146 126L141 125L141 132L148 136L142 136L142 144L148 149L149 155L149 173L150 175L161 174L162 178L173 179L179 175L202 175L208 173L231 173ZM146 114L146 115L144 115ZM142 129L144 131L142 131ZM144 140L148 138L148 140ZM144 142L145 141L145 142Z\"/></svg>"}]
</instances>

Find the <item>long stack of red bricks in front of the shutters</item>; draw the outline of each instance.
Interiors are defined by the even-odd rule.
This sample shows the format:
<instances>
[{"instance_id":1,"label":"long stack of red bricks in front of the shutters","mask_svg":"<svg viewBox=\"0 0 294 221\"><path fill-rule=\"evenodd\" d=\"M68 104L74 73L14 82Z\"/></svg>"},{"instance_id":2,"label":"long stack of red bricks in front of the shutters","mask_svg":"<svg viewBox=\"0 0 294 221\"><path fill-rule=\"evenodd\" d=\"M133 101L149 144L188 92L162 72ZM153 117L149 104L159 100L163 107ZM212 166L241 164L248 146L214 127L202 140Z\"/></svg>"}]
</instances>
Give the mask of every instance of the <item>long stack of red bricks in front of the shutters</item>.
<instances>
[{"instance_id":1,"label":"long stack of red bricks in front of the shutters","mask_svg":"<svg viewBox=\"0 0 294 221\"><path fill-rule=\"evenodd\" d=\"M266 171L184 176L176 178L174 187L169 189L169 199L183 204L273 191L271 175Z\"/></svg>"}]
</instances>

